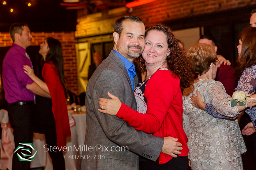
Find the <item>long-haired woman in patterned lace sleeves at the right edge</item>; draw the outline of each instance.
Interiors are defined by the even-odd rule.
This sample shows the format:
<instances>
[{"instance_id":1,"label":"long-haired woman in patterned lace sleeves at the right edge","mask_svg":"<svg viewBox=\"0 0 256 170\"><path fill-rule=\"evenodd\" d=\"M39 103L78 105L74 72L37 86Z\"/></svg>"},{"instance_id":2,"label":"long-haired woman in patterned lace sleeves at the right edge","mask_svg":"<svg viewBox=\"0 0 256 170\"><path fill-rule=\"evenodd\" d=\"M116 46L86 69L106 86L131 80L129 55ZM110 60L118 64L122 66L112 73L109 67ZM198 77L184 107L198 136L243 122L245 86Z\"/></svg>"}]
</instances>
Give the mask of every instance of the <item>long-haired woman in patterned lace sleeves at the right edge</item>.
<instances>
[{"instance_id":1,"label":"long-haired woman in patterned lace sleeves at the right edge","mask_svg":"<svg viewBox=\"0 0 256 170\"><path fill-rule=\"evenodd\" d=\"M237 65L237 75L241 76L238 81L237 90L242 90L248 92L249 94L255 94L256 90L256 27L245 28L239 34L240 40L237 46L238 50L238 60ZM224 115L219 115L218 112L210 103L204 103L202 98L192 96L193 105L197 108L205 110L207 113L214 117L235 119L237 116L230 118ZM248 123L242 130L242 134L251 135L254 133L256 127L256 107L252 107L250 104L247 105L245 112L250 116L252 122Z\"/></svg>"}]
</instances>

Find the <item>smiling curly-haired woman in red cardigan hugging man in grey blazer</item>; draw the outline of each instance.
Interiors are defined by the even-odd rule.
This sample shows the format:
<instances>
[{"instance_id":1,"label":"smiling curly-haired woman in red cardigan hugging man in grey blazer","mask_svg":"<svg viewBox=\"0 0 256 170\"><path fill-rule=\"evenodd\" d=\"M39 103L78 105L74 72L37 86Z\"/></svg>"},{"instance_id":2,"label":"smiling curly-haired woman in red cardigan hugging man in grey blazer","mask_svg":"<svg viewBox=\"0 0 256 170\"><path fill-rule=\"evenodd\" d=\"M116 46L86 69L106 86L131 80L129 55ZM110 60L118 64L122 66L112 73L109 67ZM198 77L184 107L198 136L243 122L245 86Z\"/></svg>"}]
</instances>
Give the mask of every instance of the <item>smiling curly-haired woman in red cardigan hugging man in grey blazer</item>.
<instances>
[{"instance_id":1,"label":"smiling curly-haired woman in red cardigan hugging man in grey blazer","mask_svg":"<svg viewBox=\"0 0 256 170\"><path fill-rule=\"evenodd\" d=\"M99 111L116 115L136 130L162 138L174 137L182 144L181 153L175 153L178 156L161 152L157 162L140 159L140 169L187 170L188 147L187 135L182 128L181 87L189 87L193 75L184 51L169 28L155 25L147 29L139 69L147 75L134 91L137 111L110 94L113 100L99 99L99 107L104 108Z\"/></svg>"}]
</instances>

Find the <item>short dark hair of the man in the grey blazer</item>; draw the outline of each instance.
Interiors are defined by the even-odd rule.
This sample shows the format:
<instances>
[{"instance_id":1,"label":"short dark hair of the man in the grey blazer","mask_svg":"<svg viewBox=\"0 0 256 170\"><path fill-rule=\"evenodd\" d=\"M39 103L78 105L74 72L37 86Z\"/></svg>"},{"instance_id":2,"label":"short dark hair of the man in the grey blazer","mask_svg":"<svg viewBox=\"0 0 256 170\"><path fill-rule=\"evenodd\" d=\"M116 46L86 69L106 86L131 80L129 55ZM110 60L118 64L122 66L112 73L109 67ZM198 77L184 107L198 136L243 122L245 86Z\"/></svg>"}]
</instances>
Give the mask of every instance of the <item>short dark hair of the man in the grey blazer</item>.
<instances>
[{"instance_id":1,"label":"short dark hair of the man in the grey blazer","mask_svg":"<svg viewBox=\"0 0 256 170\"><path fill-rule=\"evenodd\" d=\"M119 37L121 36L121 32L123 31L123 21L126 21L126 20L130 20L132 22L136 22L136 23L143 23L143 20L140 19L139 17L136 17L136 16L124 16L124 17L121 17L119 18L118 20L116 20L115 22L115 25L114 25L114 32L117 32ZM144 24L145 25L145 24Z\"/></svg>"}]
</instances>

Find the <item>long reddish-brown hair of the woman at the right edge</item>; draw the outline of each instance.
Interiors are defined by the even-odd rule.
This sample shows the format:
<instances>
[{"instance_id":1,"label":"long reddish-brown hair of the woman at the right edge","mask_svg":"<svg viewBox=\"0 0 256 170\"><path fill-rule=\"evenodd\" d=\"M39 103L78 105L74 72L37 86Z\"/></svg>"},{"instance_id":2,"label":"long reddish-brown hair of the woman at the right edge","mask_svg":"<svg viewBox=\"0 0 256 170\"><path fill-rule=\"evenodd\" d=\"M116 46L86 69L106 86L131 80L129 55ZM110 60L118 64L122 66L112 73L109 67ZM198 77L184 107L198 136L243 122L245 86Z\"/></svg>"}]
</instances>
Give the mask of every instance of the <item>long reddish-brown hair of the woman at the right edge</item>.
<instances>
[{"instance_id":1,"label":"long reddish-brown hair of the woman at the right edge","mask_svg":"<svg viewBox=\"0 0 256 170\"><path fill-rule=\"evenodd\" d=\"M242 41L241 54L237 59L237 76L241 76L244 70L256 64L256 27L245 28L239 34Z\"/></svg>"}]
</instances>

